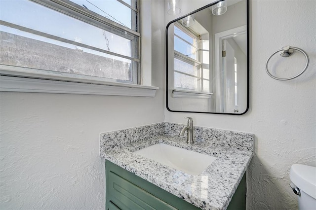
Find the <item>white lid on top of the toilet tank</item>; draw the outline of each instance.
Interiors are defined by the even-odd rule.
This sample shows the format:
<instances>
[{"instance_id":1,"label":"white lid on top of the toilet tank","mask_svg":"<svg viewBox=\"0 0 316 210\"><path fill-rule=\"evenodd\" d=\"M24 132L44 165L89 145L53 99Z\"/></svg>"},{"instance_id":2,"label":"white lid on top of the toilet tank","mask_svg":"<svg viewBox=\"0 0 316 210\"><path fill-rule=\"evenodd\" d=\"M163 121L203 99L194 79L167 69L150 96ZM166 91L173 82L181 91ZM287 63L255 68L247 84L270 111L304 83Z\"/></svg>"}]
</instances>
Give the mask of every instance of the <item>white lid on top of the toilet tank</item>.
<instances>
[{"instance_id":1,"label":"white lid on top of the toilet tank","mask_svg":"<svg viewBox=\"0 0 316 210\"><path fill-rule=\"evenodd\" d=\"M316 199L316 167L294 164L290 179L300 190Z\"/></svg>"}]
</instances>

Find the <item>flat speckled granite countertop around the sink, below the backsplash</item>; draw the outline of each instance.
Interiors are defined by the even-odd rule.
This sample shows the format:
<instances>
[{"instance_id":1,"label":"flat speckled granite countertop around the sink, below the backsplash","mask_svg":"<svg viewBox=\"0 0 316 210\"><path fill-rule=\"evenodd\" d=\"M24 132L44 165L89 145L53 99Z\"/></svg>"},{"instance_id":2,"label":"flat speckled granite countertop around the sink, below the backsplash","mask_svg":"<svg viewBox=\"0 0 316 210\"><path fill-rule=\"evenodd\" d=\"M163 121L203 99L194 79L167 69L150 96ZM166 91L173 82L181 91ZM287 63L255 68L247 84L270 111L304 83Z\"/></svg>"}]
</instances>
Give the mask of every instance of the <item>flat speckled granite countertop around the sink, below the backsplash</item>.
<instances>
[{"instance_id":1,"label":"flat speckled granite countertop around the sink, below the backsplash","mask_svg":"<svg viewBox=\"0 0 316 210\"><path fill-rule=\"evenodd\" d=\"M133 133L135 136L138 132L137 129L130 129L128 133ZM117 132L117 134L120 133ZM157 134L161 134L161 132ZM239 136L240 134L243 133L238 133ZM131 139L126 135L126 132L123 132L121 136ZM251 137L251 135L247 136L248 139L250 139L249 136ZM232 142L232 140L230 141ZM252 147L252 141L253 139L251 139L250 147ZM104 138L101 142L104 143ZM136 150L157 143L165 143L197 151L217 157L217 159L200 175L189 175L133 153ZM104 144L101 143L101 147L102 145ZM152 135L147 140L140 140L138 138L138 140L129 140L128 143L125 142L123 145L112 145L111 149L104 149L102 147L100 152L101 156L106 160L117 164L121 168L138 175L200 209L225 210L253 156L252 148L249 149L250 147L249 143L243 148L240 145L232 147L227 142L214 143L214 141L208 140L197 140L194 144L187 144L186 140L177 136Z\"/></svg>"}]
</instances>

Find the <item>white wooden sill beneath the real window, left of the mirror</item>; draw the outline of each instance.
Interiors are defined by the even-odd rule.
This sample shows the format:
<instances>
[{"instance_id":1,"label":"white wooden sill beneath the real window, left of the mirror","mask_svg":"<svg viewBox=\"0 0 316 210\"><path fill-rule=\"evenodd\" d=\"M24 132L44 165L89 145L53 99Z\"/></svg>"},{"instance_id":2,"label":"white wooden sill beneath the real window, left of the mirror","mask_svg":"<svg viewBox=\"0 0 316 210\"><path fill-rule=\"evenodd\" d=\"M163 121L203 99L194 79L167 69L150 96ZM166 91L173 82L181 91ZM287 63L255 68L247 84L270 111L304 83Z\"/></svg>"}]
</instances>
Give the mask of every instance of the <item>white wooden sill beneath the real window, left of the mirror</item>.
<instances>
[{"instance_id":1,"label":"white wooden sill beneath the real window, left of the mirror","mask_svg":"<svg viewBox=\"0 0 316 210\"><path fill-rule=\"evenodd\" d=\"M104 81L58 81L0 75L0 91L155 97L158 87Z\"/></svg>"}]
</instances>

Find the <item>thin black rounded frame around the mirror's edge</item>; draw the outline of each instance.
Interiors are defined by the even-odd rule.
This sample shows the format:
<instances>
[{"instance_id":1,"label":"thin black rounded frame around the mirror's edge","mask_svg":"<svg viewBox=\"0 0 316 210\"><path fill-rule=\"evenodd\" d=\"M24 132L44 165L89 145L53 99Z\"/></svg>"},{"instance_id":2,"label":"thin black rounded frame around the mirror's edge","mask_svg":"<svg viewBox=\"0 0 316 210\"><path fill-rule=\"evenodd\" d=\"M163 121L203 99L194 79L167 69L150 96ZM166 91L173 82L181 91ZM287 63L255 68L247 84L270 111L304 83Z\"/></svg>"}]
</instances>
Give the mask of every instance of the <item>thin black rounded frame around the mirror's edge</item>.
<instances>
[{"instance_id":1,"label":"thin black rounded frame around the mirror's edge","mask_svg":"<svg viewBox=\"0 0 316 210\"><path fill-rule=\"evenodd\" d=\"M175 23L177 22L178 20L181 20L183 18L185 18L186 16L188 15L192 15L198 11L201 11L205 8L208 8L220 1L223 1L223 0L218 0L218 1L215 1L213 3L210 3L210 4L207 4L193 12L190 12L186 15L183 15L173 21L170 21L167 26L166 26L166 34L165 34L165 46L166 46L166 50L165 50L165 59L166 59L166 66L165 66L165 76L166 76L166 90L165 90L165 93L166 93L166 108L168 111L171 111L171 112L188 112L188 113L205 113L205 114L229 114L229 115L242 115L242 114L245 114L248 110L249 110L249 66L250 66L250 55L249 55L249 0L246 0L246 10L247 10L247 106L246 106L246 110L242 113L221 113L221 112L202 112L202 111L176 111L176 110L171 110L169 107L168 107L168 28L169 26L172 24L172 23Z\"/></svg>"}]
</instances>

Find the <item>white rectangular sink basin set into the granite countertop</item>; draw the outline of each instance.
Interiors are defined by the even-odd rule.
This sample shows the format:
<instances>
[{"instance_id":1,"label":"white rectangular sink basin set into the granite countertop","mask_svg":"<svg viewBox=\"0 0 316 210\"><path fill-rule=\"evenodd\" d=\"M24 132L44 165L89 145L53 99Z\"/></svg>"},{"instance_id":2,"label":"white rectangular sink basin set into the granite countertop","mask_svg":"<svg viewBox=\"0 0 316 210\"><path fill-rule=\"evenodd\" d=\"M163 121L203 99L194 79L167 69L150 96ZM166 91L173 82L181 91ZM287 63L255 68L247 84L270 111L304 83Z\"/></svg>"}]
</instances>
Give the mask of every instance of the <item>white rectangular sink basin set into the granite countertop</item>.
<instances>
[{"instance_id":1,"label":"white rectangular sink basin set into the granite countertop","mask_svg":"<svg viewBox=\"0 0 316 210\"><path fill-rule=\"evenodd\" d=\"M216 159L216 157L164 143L158 143L134 153L190 175L199 175Z\"/></svg>"}]
</instances>

